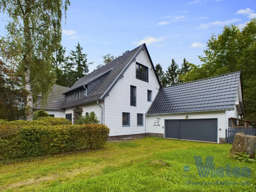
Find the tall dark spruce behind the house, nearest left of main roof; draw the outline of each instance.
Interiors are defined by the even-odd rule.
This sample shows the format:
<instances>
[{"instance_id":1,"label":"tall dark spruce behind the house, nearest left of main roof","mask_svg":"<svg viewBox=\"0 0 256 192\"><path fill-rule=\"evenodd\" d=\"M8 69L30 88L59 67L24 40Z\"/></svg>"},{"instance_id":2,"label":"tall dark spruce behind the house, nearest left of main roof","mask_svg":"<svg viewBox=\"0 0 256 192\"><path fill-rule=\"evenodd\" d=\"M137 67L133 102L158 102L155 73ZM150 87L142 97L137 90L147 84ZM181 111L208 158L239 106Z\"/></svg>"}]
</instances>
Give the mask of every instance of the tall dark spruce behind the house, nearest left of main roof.
<instances>
[{"instance_id":1,"label":"tall dark spruce behind the house, nearest left of main roof","mask_svg":"<svg viewBox=\"0 0 256 192\"><path fill-rule=\"evenodd\" d=\"M81 47L79 42L77 43L76 51L71 50L70 55L68 56L68 59L70 62L67 64L67 68L72 69L76 68L76 70L73 70L73 78L74 83L84 76L84 68L88 68L89 65L91 65L93 62L87 64L86 56L87 54L82 53L82 50L84 49Z\"/></svg>"}]
</instances>

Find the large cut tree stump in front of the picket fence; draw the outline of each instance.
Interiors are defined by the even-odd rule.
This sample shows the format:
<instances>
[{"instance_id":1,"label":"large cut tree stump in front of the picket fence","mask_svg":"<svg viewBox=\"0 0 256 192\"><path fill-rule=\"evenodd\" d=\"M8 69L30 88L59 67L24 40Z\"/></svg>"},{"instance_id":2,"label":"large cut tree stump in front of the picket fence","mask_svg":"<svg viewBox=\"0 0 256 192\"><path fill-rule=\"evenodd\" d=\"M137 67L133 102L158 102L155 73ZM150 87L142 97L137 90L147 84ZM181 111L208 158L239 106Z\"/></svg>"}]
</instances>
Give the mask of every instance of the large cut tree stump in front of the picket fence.
<instances>
[{"instance_id":1,"label":"large cut tree stump in front of the picket fence","mask_svg":"<svg viewBox=\"0 0 256 192\"><path fill-rule=\"evenodd\" d=\"M251 159L254 159L255 150L256 150L256 136L236 133L234 143L232 145L229 155L233 157L234 155L237 155L236 152L238 153L246 152L247 155L250 155Z\"/></svg>"}]
</instances>

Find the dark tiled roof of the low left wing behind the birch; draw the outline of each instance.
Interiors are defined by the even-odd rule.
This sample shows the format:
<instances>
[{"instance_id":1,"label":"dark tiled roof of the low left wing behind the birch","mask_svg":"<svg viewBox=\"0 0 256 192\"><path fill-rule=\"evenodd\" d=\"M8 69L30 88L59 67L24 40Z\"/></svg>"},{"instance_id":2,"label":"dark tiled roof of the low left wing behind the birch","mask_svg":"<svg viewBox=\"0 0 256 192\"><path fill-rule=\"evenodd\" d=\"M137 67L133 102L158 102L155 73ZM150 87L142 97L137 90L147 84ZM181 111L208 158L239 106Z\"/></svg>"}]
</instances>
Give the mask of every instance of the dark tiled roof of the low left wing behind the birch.
<instances>
[{"instance_id":1,"label":"dark tiled roof of the low left wing behind the birch","mask_svg":"<svg viewBox=\"0 0 256 192\"><path fill-rule=\"evenodd\" d=\"M53 85L46 104L43 106L42 99L40 99L33 104L33 109L63 110L61 109L61 106L65 102L65 95L63 95L62 93L66 92L69 89L69 87Z\"/></svg>"}]
</instances>

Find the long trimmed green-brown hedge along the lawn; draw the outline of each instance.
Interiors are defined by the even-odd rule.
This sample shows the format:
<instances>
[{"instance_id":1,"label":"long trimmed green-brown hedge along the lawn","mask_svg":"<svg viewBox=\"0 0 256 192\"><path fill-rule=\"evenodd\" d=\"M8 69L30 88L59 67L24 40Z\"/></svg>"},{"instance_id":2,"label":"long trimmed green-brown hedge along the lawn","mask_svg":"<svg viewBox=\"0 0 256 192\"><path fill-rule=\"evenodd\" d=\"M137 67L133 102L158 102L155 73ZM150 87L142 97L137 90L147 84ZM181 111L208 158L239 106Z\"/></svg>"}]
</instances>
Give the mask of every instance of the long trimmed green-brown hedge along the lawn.
<instances>
[{"instance_id":1,"label":"long trimmed green-brown hedge along the lawn","mask_svg":"<svg viewBox=\"0 0 256 192\"><path fill-rule=\"evenodd\" d=\"M54 126L1 124L0 155L4 159L13 159L99 149L106 143L108 134L109 129L103 124Z\"/></svg>"}]
</instances>

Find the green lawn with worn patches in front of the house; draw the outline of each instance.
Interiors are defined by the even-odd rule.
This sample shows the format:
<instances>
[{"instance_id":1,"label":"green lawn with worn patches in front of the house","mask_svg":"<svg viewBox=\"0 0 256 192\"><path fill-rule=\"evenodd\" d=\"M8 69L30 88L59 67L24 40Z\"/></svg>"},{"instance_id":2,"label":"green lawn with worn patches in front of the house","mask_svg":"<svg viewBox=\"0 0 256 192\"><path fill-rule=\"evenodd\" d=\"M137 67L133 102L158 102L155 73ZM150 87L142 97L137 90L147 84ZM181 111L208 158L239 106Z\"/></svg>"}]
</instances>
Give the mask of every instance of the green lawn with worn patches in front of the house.
<instances>
[{"instance_id":1,"label":"green lawn with worn patches in front of the house","mask_svg":"<svg viewBox=\"0 0 256 192\"><path fill-rule=\"evenodd\" d=\"M230 144L160 138L112 141L97 151L0 164L0 191L256 191L256 163L228 157L230 148ZM203 163L214 156L216 168L249 167L252 175L201 178L194 156L201 156ZM189 172L183 171L186 165ZM188 180L232 183L185 185Z\"/></svg>"}]
</instances>

